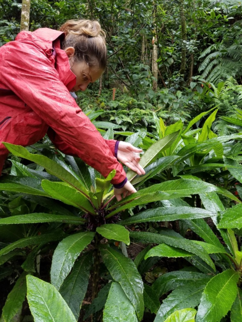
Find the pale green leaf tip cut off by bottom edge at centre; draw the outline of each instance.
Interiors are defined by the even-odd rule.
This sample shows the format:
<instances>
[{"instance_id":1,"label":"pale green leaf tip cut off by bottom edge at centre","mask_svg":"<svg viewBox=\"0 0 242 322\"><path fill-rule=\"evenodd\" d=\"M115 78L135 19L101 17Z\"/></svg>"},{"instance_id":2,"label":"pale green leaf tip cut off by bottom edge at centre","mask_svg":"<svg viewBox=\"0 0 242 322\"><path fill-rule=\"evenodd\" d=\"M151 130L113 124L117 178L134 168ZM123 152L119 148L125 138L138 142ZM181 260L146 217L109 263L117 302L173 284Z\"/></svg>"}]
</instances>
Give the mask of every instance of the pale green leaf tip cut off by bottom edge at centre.
<instances>
[{"instance_id":1,"label":"pale green leaf tip cut off by bottom edge at centre","mask_svg":"<svg viewBox=\"0 0 242 322\"><path fill-rule=\"evenodd\" d=\"M118 283L112 283L105 308L103 322L138 322L134 306Z\"/></svg>"}]
</instances>

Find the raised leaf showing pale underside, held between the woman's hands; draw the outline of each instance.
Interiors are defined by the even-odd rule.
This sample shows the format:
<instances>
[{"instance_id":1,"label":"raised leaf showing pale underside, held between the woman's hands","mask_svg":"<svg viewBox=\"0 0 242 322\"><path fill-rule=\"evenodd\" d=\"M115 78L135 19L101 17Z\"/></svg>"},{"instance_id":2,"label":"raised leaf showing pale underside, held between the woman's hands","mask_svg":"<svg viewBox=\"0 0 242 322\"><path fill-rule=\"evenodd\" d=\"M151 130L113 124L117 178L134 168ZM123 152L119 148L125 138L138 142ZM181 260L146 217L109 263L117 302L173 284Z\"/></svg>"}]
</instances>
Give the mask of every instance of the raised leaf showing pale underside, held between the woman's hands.
<instances>
[{"instance_id":1,"label":"raised leaf showing pale underside, held between the woman's hands","mask_svg":"<svg viewBox=\"0 0 242 322\"><path fill-rule=\"evenodd\" d=\"M152 144L140 160L141 167L145 168L146 166L148 166L149 163L154 159L154 157L158 155L158 153L166 150L169 146L171 146L178 133L179 131L171 133L170 135L167 135L162 139L156 141L154 144ZM127 174L127 178L129 181L132 181L136 176L137 174L134 171L129 171Z\"/></svg>"}]
</instances>

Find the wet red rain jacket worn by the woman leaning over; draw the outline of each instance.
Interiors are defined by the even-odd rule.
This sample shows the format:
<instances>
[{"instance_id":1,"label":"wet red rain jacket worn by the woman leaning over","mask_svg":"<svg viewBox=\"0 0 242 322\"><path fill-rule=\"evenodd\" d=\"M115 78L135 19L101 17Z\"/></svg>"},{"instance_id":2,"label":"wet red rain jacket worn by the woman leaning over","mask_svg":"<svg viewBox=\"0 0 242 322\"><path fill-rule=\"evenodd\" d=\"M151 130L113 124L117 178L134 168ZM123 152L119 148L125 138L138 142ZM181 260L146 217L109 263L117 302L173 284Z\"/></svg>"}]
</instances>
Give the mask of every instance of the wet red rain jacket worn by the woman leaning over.
<instances>
[{"instance_id":1,"label":"wet red rain jacket worn by the woman leaning over","mask_svg":"<svg viewBox=\"0 0 242 322\"><path fill-rule=\"evenodd\" d=\"M47 132L59 150L104 177L115 169L112 183L118 184L126 173L114 156L116 141L104 140L70 95L76 76L62 37L48 28L22 31L0 48L0 174L9 153L2 142L27 146Z\"/></svg>"}]
</instances>

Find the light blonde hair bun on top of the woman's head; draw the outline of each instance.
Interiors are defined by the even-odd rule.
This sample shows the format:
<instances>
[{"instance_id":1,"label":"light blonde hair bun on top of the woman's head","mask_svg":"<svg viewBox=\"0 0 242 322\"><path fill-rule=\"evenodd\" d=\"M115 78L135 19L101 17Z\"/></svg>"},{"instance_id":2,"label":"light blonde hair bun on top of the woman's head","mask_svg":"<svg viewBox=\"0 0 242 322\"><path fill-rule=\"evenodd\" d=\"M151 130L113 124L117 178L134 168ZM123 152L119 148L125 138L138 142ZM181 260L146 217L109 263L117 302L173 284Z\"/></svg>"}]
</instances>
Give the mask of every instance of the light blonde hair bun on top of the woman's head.
<instances>
[{"instance_id":1,"label":"light blonde hair bun on top of the woman's head","mask_svg":"<svg viewBox=\"0 0 242 322\"><path fill-rule=\"evenodd\" d=\"M68 20L62 27L60 28L66 36L69 34L73 35L83 35L87 37L97 37L101 36L105 38L105 33L101 29L101 26L98 21L91 20Z\"/></svg>"}]
</instances>

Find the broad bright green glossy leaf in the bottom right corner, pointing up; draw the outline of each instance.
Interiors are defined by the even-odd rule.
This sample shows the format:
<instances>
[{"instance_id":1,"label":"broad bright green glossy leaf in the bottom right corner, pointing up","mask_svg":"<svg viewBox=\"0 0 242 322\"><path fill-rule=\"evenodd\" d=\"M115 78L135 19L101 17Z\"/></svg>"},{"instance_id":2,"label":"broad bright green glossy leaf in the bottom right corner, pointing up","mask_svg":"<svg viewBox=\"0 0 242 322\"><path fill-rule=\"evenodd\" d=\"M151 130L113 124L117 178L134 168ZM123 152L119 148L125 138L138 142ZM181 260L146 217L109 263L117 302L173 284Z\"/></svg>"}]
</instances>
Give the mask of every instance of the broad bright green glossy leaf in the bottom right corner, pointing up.
<instances>
[{"instance_id":1,"label":"broad bright green glossy leaf in the bottom right corner, pointing up","mask_svg":"<svg viewBox=\"0 0 242 322\"><path fill-rule=\"evenodd\" d=\"M208 282L198 307L197 322L219 322L227 314L236 297L238 278L237 272L227 270Z\"/></svg>"}]
</instances>

